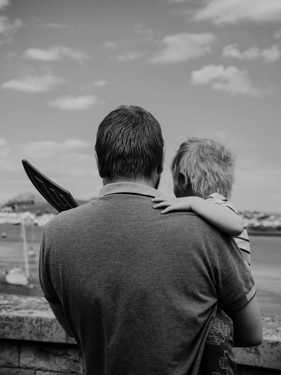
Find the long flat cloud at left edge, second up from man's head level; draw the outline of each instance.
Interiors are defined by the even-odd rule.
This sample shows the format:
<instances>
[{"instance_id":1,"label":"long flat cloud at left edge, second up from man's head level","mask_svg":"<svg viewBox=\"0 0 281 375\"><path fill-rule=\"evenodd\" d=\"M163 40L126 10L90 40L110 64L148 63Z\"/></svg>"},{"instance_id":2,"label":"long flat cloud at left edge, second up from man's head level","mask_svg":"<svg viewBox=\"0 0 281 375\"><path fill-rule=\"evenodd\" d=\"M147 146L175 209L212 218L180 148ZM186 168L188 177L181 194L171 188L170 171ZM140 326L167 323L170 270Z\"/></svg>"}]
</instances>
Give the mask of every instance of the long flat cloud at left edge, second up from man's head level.
<instances>
[{"instance_id":1,"label":"long flat cloud at left edge, second up from man's head level","mask_svg":"<svg viewBox=\"0 0 281 375\"><path fill-rule=\"evenodd\" d=\"M56 85L63 82L62 78L54 77L49 74L43 76L27 75L20 79L14 79L2 84L1 88L22 92L46 92L51 91Z\"/></svg>"}]
</instances>

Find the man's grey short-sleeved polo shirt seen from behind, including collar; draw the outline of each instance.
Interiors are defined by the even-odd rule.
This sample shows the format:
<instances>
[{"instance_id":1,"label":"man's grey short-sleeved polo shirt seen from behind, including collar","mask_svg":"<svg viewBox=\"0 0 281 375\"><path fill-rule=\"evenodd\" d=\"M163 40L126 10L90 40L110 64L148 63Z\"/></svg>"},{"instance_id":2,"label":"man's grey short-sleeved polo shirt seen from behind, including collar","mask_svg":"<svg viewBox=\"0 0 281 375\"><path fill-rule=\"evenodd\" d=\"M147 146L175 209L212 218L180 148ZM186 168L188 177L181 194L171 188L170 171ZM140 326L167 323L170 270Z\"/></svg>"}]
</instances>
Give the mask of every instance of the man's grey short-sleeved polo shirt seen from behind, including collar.
<instances>
[{"instance_id":1,"label":"man's grey short-sleeved polo shirt seen from behind, including collar","mask_svg":"<svg viewBox=\"0 0 281 375\"><path fill-rule=\"evenodd\" d=\"M255 294L232 238L193 213L161 215L159 194L109 184L44 228L41 287L86 375L195 375L218 301L231 313Z\"/></svg>"}]
</instances>

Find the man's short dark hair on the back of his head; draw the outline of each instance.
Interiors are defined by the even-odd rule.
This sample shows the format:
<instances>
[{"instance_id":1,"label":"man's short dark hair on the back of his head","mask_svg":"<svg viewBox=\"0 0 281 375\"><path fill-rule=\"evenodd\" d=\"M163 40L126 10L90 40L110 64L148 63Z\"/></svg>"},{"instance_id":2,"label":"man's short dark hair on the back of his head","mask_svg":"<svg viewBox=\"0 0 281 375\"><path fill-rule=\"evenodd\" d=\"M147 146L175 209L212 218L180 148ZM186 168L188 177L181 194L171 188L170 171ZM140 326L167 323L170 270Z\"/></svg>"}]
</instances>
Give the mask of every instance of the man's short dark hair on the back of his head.
<instances>
[{"instance_id":1,"label":"man's short dark hair on the back of his head","mask_svg":"<svg viewBox=\"0 0 281 375\"><path fill-rule=\"evenodd\" d=\"M150 178L162 160L164 140L159 122L136 106L120 106L101 121L95 151L100 176Z\"/></svg>"}]
</instances>

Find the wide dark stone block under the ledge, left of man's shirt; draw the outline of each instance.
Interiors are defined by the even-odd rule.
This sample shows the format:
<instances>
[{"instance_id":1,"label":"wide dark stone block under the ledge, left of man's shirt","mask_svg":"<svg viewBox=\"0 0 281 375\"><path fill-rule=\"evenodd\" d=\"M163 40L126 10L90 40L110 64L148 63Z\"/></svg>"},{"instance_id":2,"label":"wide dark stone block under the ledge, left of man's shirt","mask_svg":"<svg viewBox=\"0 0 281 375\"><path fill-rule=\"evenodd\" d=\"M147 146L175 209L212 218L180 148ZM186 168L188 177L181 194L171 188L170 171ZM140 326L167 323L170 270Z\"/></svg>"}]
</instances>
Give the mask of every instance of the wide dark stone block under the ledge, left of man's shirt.
<instances>
[{"instance_id":1,"label":"wide dark stone block under the ledge, left of man's shirt","mask_svg":"<svg viewBox=\"0 0 281 375\"><path fill-rule=\"evenodd\" d=\"M22 344L19 358L19 366L23 368L83 373L82 353L71 345Z\"/></svg>"}]
</instances>

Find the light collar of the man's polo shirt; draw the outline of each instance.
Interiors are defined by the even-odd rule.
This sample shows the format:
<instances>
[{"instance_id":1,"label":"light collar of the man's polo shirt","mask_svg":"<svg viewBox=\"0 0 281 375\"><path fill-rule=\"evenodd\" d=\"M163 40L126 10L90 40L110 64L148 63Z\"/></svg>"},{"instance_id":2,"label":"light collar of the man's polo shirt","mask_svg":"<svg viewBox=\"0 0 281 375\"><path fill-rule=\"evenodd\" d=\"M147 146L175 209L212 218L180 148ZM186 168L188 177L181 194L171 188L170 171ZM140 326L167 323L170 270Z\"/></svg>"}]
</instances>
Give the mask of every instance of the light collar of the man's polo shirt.
<instances>
[{"instance_id":1,"label":"light collar of the man's polo shirt","mask_svg":"<svg viewBox=\"0 0 281 375\"><path fill-rule=\"evenodd\" d=\"M112 184L104 185L100 191L98 196L104 196L109 194L116 194L116 193L130 193L130 194L141 194L141 195L151 195L151 196L162 196L162 194L147 185L137 184L135 182L115 182Z\"/></svg>"}]
</instances>

